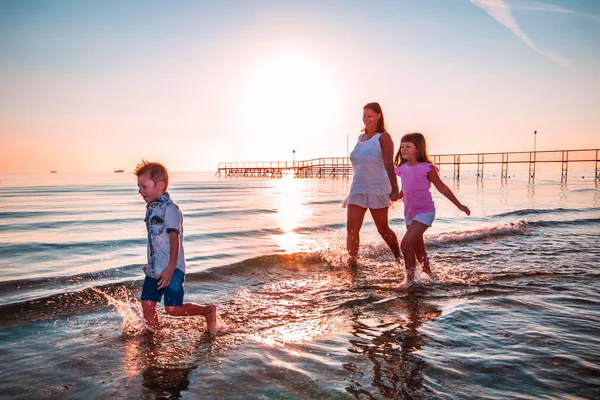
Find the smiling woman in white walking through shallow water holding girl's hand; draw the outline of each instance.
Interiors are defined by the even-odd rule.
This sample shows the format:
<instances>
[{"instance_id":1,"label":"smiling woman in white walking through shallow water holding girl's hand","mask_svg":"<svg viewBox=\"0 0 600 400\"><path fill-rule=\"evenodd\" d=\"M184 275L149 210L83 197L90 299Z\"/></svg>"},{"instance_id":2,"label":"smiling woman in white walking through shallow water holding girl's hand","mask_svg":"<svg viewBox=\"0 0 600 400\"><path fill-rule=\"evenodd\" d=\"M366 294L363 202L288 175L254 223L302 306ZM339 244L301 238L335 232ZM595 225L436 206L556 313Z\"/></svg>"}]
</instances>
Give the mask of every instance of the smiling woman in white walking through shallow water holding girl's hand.
<instances>
[{"instance_id":1,"label":"smiling woman in white walking through shallow water holding girl's hand","mask_svg":"<svg viewBox=\"0 0 600 400\"><path fill-rule=\"evenodd\" d=\"M363 107L363 123L363 133L350 153L354 177L350 194L344 201L344 206L348 207L346 248L351 266L357 263L360 228L367 209L394 258L398 260L401 257L398 238L388 225L388 209L392 200L399 197L394 173L394 142L385 130L379 103L368 103Z\"/></svg>"}]
</instances>

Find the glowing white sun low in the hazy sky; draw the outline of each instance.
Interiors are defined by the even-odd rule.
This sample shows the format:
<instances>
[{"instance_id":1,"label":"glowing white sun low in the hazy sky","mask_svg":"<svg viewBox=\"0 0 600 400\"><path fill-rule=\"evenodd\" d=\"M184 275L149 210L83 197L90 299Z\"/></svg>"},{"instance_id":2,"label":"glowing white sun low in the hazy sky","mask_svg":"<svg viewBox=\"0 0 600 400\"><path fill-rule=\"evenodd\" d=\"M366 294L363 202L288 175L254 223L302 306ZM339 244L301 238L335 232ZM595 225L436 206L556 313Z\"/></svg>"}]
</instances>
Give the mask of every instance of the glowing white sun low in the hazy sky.
<instances>
[{"instance_id":1,"label":"glowing white sun low in the hazy sky","mask_svg":"<svg viewBox=\"0 0 600 400\"><path fill-rule=\"evenodd\" d=\"M249 68L242 88L244 130L261 138L307 139L339 124L340 98L334 72L305 54L281 53ZM316 133L315 133L316 134ZM313 143L314 146L314 143Z\"/></svg>"}]
</instances>

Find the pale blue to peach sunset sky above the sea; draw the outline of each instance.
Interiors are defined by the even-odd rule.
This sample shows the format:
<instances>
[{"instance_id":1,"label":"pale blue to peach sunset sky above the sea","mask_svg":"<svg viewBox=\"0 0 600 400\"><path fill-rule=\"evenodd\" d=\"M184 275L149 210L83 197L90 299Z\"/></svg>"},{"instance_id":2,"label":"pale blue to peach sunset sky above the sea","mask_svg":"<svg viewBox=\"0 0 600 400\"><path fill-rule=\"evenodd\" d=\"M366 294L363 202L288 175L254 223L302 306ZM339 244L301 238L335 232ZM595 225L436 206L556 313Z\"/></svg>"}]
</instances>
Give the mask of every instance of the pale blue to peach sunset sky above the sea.
<instances>
[{"instance_id":1,"label":"pale blue to peach sunset sky above the sea","mask_svg":"<svg viewBox=\"0 0 600 400\"><path fill-rule=\"evenodd\" d=\"M0 173L600 148L597 0L2 0Z\"/></svg>"}]
</instances>

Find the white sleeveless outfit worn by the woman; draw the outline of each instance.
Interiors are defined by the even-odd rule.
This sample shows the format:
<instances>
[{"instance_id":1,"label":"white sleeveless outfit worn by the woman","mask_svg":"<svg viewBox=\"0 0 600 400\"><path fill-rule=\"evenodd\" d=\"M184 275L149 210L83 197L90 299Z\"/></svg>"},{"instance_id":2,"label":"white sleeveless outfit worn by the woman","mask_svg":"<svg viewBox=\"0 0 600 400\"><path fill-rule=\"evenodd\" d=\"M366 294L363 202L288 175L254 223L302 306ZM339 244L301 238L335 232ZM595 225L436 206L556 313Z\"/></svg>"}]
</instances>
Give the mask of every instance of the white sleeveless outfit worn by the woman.
<instances>
[{"instance_id":1,"label":"white sleeveless outfit worn by the woman","mask_svg":"<svg viewBox=\"0 0 600 400\"><path fill-rule=\"evenodd\" d=\"M376 133L364 142L364 133L358 137L358 142L350 153L353 178L344 206L356 204L363 208L385 208L392 204L389 196L392 185L385 170L379 143L381 135L382 132Z\"/></svg>"}]
</instances>

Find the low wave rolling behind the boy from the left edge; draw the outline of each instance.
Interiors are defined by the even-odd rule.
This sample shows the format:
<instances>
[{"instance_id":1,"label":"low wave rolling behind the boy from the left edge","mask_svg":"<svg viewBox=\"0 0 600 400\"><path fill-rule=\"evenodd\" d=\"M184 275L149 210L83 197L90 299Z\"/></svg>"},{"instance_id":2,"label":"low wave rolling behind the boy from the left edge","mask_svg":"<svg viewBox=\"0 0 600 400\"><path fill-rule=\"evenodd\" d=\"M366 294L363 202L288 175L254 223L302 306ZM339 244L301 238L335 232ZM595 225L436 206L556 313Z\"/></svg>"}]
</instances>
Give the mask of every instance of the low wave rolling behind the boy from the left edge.
<instances>
[{"instance_id":1,"label":"low wave rolling behind the boy from the left edge","mask_svg":"<svg viewBox=\"0 0 600 400\"><path fill-rule=\"evenodd\" d=\"M239 289L253 283L268 284L300 270L320 271L329 266L318 253L276 254L254 257L222 267L186 273L186 282L202 283L218 289L234 283ZM2 328L19 326L108 308L105 295L134 300L141 290L141 265L56 278L34 278L0 283L0 294L10 300L0 305Z\"/></svg>"}]
</instances>

